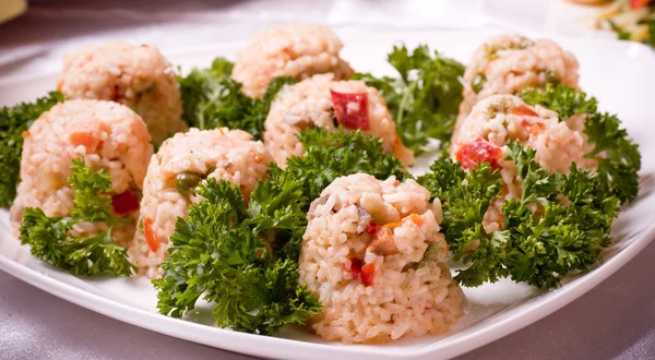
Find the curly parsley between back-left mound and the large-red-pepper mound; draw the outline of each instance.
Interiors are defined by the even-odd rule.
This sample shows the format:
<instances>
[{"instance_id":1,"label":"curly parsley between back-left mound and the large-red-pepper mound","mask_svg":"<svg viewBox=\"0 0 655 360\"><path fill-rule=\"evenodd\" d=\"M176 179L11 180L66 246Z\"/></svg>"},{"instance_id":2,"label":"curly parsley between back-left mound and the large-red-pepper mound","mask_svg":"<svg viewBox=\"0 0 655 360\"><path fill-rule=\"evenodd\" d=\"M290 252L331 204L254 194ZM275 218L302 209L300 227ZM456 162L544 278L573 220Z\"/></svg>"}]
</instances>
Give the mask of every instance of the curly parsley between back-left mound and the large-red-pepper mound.
<instances>
[{"instance_id":1,"label":"curly parsley between back-left mound and the large-red-pepper mound","mask_svg":"<svg viewBox=\"0 0 655 360\"><path fill-rule=\"evenodd\" d=\"M178 76L182 119L200 130L227 127L247 131L260 140L271 101L284 85L295 81L276 77L261 99L252 99L241 93L241 84L230 79L233 68L233 62L217 58L207 69L193 69L186 77Z\"/></svg>"}]
</instances>

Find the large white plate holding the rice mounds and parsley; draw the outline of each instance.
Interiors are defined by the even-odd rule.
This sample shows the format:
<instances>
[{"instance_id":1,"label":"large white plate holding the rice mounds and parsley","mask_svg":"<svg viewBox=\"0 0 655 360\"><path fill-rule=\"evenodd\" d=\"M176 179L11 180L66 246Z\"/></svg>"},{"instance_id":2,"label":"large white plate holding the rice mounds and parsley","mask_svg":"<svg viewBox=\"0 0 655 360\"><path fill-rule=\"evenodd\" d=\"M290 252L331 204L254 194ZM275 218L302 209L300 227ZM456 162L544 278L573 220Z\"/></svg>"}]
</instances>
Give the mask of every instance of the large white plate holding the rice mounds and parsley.
<instances>
[{"instance_id":1,"label":"large white plate holding the rice mounds and parsley","mask_svg":"<svg viewBox=\"0 0 655 360\"><path fill-rule=\"evenodd\" d=\"M431 47L466 62L488 32L338 32L346 44L344 58L359 71L391 74L384 61L393 44L409 46L427 43ZM534 35L534 34L531 34ZM558 38L581 63L581 85L594 94L604 110L620 115L642 154L655 152L655 113L652 84L655 83L655 53L629 43L590 38ZM188 70L207 65L216 56L231 58L240 44L207 46L166 53L171 62ZM21 83L0 81L0 105L32 100L55 87L56 74L37 76ZM511 281L465 289L465 315L452 332L443 336L404 339L383 346L325 343L299 327L287 327L275 337L258 336L209 326L209 308L200 307L189 320L157 314L156 295L145 278L80 279L31 256L9 231L8 214L0 211L0 268L55 296L136 326L252 356L279 359L441 359L483 346L524 327L588 291L641 251L655 236L655 160L645 156L640 199L615 221L616 243L603 252L595 268L571 277L557 290L540 292Z\"/></svg>"}]
</instances>

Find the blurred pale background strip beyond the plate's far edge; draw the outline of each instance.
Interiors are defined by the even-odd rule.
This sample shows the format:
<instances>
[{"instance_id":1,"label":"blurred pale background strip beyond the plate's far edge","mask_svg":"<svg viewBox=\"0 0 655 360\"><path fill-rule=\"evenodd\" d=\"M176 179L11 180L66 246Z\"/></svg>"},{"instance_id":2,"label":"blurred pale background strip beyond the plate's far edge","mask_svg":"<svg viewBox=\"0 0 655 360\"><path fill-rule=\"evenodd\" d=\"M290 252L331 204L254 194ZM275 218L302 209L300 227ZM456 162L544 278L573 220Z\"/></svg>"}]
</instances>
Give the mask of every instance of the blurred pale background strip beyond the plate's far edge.
<instances>
[{"instance_id":1,"label":"blurred pale background strip beyond the plate's far edge","mask_svg":"<svg viewBox=\"0 0 655 360\"><path fill-rule=\"evenodd\" d=\"M57 70L62 53L86 43L147 43L167 52L246 39L271 24L294 21L362 32L496 25L614 37L588 28L597 11L571 0L0 0L0 77Z\"/></svg>"}]
</instances>

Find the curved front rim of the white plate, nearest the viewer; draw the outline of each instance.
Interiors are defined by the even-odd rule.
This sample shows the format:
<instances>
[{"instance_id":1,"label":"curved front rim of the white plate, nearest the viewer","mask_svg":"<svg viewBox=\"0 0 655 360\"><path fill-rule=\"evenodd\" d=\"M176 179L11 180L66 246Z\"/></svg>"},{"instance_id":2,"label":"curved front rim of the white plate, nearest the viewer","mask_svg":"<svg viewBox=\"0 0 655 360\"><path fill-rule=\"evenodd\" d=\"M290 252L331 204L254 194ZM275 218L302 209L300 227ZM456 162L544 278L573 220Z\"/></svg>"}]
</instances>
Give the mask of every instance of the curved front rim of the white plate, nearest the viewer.
<instances>
[{"instance_id":1,"label":"curved front rim of the white plate, nearest the viewer","mask_svg":"<svg viewBox=\"0 0 655 360\"><path fill-rule=\"evenodd\" d=\"M445 343L442 340L437 340L417 348L407 349L404 353L398 351L384 351L386 348L385 346L342 346L338 343L309 343L289 338L234 332L230 329L213 327L191 321L170 317L156 312L148 312L143 309L130 307L117 300L104 298L99 295L86 291L82 288L43 274L26 265L20 264L11 259L8 259L2 253L0 253L0 269L50 295L91 311L100 313L105 316L159 334L225 350L239 351L241 353L267 358L272 356L271 352L276 352L273 356L281 359L306 359L305 356L315 356L313 352L314 350L320 350L323 352L327 351L335 356L338 355L341 357L340 359L361 359L362 356L374 356L376 359L424 359L428 356L432 356L431 359L445 359L460 356L485 346L555 313L591 289L595 288L610 275L615 274L619 268L621 268L638 253L640 253L642 249L648 245L653 239L655 239L655 223L651 224L641 235L639 235L638 239L633 240L630 244L621 249L621 251L600 264L598 267L579 278L573 279L562 288L546 292L544 295L545 298L541 300L543 302L539 303L538 307L528 309L516 308L509 310L509 312L505 314L505 319L491 323L485 328L475 329L474 327L471 327L468 328L471 331L464 329L461 332L462 335L457 336L457 334L455 334L453 335L454 337L452 339L449 339ZM594 276L590 276L592 273ZM142 320L148 321L141 322ZM202 335L215 333L215 335L223 335L225 338L222 341L210 343L203 340L203 338L192 336L198 335L199 333L184 332L186 329L199 329L201 332L200 334ZM475 338L476 341L471 341L472 338ZM230 343L230 339L239 339L240 341ZM248 341L242 341L248 339L258 339L257 341L264 343L263 345L271 345L271 347L266 347L265 349L248 347ZM221 343L230 344L230 346L219 347ZM294 346L294 353L285 352L286 345L290 344ZM283 346L283 348L278 348L277 346Z\"/></svg>"}]
</instances>

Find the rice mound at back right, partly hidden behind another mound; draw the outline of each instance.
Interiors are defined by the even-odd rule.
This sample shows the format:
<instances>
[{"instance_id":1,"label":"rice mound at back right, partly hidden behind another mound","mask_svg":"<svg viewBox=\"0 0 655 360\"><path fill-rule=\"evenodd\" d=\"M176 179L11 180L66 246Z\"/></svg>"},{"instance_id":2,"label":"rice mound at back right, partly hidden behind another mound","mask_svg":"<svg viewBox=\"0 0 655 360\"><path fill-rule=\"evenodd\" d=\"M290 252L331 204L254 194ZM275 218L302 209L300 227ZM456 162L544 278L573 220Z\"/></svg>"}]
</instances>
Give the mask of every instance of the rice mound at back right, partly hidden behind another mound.
<instances>
[{"instance_id":1,"label":"rice mound at back right, partly hidden behind another mound","mask_svg":"<svg viewBox=\"0 0 655 360\"><path fill-rule=\"evenodd\" d=\"M457 121L464 121L479 100L491 95L517 95L528 87L545 87L547 83L577 88L577 70L573 53L552 40L491 36L477 48L464 72L464 99Z\"/></svg>"}]
</instances>

